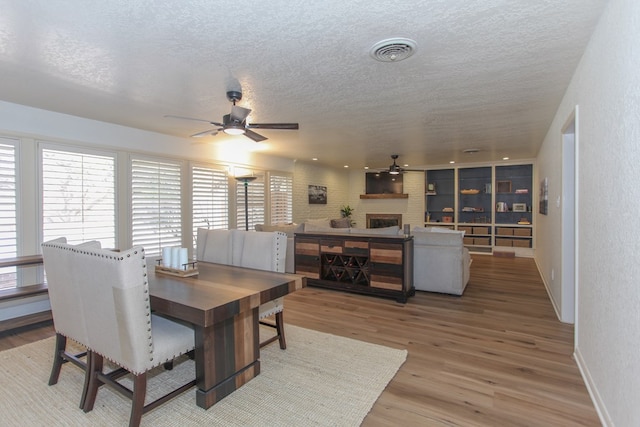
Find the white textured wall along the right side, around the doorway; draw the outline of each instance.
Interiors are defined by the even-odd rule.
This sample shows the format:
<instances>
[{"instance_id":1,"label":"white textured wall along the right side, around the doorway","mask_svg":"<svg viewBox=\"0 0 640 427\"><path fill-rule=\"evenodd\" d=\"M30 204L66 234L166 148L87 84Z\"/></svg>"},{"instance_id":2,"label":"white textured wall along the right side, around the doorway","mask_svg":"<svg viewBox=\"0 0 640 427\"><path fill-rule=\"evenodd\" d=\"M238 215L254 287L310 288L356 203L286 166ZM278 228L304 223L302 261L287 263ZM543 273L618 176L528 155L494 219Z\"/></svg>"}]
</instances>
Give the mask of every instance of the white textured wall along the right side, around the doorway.
<instances>
[{"instance_id":1,"label":"white textured wall along the right side, around the doorway","mask_svg":"<svg viewBox=\"0 0 640 427\"><path fill-rule=\"evenodd\" d=\"M536 260L559 268L561 129L579 107L575 356L605 425L640 425L640 2L611 0L538 156L550 215ZM559 298L556 282L548 282ZM560 305L556 301L556 305Z\"/></svg>"}]
</instances>

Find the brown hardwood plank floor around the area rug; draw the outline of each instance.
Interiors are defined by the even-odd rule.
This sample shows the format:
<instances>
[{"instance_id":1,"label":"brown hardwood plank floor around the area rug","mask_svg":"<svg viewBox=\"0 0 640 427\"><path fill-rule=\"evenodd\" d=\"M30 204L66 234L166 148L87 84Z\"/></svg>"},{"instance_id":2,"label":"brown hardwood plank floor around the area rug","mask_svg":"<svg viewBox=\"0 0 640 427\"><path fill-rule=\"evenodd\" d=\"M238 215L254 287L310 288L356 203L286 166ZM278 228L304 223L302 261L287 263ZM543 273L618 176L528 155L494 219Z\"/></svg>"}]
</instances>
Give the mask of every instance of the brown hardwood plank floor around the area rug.
<instances>
[{"instance_id":1,"label":"brown hardwood plank floor around the area rug","mask_svg":"<svg viewBox=\"0 0 640 427\"><path fill-rule=\"evenodd\" d=\"M474 255L462 297L418 292L407 304L305 288L285 323L406 348L407 361L363 426L599 426L532 259ZM0 350L53 335L50 324L0 334Z\"/></svg>"}]
</instances>

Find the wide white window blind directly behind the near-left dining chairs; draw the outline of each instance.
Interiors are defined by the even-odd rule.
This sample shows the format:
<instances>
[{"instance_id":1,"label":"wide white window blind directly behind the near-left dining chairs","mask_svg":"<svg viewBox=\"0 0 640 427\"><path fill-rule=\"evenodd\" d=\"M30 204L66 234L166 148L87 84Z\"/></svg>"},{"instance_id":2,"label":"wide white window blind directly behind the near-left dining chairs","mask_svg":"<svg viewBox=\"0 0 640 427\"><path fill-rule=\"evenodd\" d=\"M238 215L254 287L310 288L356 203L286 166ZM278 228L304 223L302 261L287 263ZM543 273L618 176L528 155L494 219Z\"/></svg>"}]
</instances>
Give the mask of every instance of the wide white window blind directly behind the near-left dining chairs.
<instances>
[{"instance_id":1,"label":"wide white window blind directly behind the near-left dining chairs","mask_svg":"<svg viewBox=\"0 0 640 427\"><path fill-rule=\"evenodd\" d=\"M115 247L115 157L42 149L43 241Z\"/></svg>"}]
</instances>

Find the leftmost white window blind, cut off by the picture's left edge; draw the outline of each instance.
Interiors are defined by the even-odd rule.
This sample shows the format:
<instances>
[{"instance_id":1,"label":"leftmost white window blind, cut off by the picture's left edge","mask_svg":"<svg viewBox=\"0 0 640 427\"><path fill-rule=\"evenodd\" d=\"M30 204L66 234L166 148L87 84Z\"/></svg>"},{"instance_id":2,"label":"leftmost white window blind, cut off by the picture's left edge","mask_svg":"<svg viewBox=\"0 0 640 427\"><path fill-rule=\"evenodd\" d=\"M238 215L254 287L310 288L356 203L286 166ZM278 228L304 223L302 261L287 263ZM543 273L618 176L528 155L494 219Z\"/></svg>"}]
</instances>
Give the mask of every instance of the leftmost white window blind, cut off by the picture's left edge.
<instances>
[{"instance_id":1,"label":"leftmost white window blind, cut off by the picture's left edge","mask_svg":"<svg viewBox=\"0 0 640 427\"><path fill-rule=\"evenodd\" d=\"M0 138L0 258L17 255L16 148ZM16 267L0 269L0 289L17 286Z\"/></svg>"}]
</instances>

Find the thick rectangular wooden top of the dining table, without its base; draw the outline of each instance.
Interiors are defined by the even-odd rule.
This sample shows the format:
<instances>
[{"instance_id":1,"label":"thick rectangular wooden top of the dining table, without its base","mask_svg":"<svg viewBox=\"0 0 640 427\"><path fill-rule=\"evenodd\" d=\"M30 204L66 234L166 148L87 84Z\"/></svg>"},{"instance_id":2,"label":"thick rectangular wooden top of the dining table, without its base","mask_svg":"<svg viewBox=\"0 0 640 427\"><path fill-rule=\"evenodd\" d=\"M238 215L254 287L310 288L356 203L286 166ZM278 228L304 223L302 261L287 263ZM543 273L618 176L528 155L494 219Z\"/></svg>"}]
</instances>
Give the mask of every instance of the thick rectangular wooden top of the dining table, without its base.
<instances>
[{"instance_id":1,"label":"thick rectangular wooden top of the dining table, without its base","mask_svg":"<svg viewBox=\"0 0 640 427\"><path fill-rule=\"evenodd\" d=\"M297 274L207 262L198 262L199 274L191 277L148 270L152 310L204 327L306 285Z\"/></svg>"}]
</instances>

